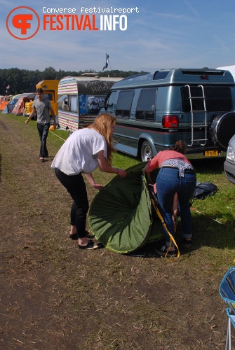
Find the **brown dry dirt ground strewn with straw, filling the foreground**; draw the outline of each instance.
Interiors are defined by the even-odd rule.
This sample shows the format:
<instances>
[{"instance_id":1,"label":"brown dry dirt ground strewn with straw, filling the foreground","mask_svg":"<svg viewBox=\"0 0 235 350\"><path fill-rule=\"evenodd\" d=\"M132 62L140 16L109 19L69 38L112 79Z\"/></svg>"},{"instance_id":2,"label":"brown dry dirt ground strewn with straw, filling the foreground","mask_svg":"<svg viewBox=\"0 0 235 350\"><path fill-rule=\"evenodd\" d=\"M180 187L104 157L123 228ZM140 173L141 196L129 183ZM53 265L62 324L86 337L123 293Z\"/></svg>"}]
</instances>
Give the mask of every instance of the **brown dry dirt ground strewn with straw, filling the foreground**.
<instances>
[{"instance_id":1,"label":"brown dry dirt ground strewn with straw, filling the foreground","mask_svg":"<svg viewBox=\"0 0 235 350\"><path fill-rule=\"evenodd\" d=\"M173 263L154 244L145 257L79 251L67 237L71 200L51 170L58 143L50 134L40 163L36 128L20 118L0 115L1 347L224 349L225 270L213 248L198 241Z\"/></svg>"}]
</instances>

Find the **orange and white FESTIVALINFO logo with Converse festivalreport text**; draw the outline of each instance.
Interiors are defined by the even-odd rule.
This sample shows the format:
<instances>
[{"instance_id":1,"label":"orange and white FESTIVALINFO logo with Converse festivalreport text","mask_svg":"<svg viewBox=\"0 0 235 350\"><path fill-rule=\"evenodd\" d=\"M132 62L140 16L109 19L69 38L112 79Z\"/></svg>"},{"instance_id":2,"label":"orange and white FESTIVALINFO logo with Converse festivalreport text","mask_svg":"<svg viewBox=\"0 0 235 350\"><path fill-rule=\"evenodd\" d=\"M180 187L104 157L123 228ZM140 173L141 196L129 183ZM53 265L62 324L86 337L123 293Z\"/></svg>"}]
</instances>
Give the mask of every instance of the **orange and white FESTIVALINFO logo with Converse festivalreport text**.
<instances>
[{"instance_id":1,"label":"orange and white FESTIVALINFO logo with Converse festivalreport text","mask_svg":"<svg viewBox=\"0 0 235 350\"><path fill-rule=\"evenodd\" d=\"M18 40L32 38L42 25L43 31L125 31L128 28L128 15L139 13L135 8L47 8L41 9L42 24L39 14L27 6L13 8L6 18L9 34Z\"/></svg>"}]
</instances>

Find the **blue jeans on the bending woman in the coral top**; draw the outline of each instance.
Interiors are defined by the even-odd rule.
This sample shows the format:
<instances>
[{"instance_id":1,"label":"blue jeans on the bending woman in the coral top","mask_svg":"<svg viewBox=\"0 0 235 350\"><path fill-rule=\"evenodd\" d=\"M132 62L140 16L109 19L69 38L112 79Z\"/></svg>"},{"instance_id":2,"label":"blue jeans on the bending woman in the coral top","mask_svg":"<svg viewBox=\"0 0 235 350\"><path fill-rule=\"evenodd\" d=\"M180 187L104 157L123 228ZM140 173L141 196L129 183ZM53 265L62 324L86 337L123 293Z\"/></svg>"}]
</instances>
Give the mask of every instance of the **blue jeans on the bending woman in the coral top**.
<instances>
[{"instance_id":1,"label":"blue jeans on the bending woman in the coral top","mask_svg":"<svg viewBox=\"0 0 235 350\"><path fill-rule=\"evenodd\" d=\"M170 167L162 167L156 178L156 191L160 204L160 212L166 226L173 237L173 198L178 195L180 218L184 238L192 237L192 217L190 211L190 200L194 196L196 187L196 174L185 172L184 177L179 176L179 170ZM170 246L170 237L165 231L166 246Z\"/></svg>"}]
</instances>

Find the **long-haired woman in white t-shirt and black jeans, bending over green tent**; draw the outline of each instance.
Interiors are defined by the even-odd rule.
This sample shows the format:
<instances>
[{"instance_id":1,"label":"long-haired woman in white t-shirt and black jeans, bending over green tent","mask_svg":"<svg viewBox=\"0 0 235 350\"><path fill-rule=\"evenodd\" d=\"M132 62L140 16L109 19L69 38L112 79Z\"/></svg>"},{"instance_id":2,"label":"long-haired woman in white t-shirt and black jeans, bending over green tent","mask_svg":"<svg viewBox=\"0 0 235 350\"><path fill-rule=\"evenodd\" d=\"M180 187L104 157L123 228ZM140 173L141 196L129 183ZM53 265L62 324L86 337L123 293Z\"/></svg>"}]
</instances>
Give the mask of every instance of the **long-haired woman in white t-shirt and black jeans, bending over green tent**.
<instances>
[{"instance_id":1,"label":"long-haired woman in white t-shirt and black jeans, bending over green tent","mask_svg":"<svg viewBox=\"0 0 235 350\"><path fill-rule=\"evenodd\" d=\"M80 249L99 248L99 244L86 237L86 215L88 213L88 196L86 179L93 188L102 190L103 185L96 183L92 172L99 167L101 172L113 173L121 178L126 176L123 169L112 167L112 133L116 118L102 113L95 122L86 128L76 130L62 145L52 162L55 176L71 195L72 203L69 237L78 238Z\"/></svg>"}]
</instances>

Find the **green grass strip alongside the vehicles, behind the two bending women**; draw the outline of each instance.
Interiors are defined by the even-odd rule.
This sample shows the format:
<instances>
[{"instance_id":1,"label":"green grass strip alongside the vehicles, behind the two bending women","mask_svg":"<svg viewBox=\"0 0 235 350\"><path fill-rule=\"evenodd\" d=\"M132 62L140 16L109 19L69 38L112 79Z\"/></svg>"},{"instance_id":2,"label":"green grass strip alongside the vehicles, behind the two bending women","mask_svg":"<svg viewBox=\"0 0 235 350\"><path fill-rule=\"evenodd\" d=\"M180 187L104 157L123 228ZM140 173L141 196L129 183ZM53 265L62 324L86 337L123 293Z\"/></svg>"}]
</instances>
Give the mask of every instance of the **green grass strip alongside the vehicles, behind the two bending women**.
<instances>
[{"instance_id":1,"label":"green grass strip alongside the vehicles, behind the two bending women","mask_svg":"<svg viewBox=\"0 0 235 350\"><path fill-rule=\"evenodd\" d=\"M11 118L14 118L11 116ZM15 118L20 118L16 116ZM20 120L22 122L22 120ZM36 123L31 122L30 127L36 129ZM58 145L58 148L63 144L69 136L68 132L63 130L55 130L49 134L49 138ZM140 160L132 158L123 153L114 153L113 165L122 169L127 169L139 163ZM213 197L208 197L206 200L196 200L193 204L193 209L201 211L205 216L209 216L214 220L219 221L223 225L227 225L231 230L235 230L235 186L230 183L224 175L224 158L203 158L201 160L192 160L194 169L196 170L197 181L214 183L218 192ZM110 174L99 174L99 178L105 182L112 179ZM103 181L104 181L103 180Z\"/></svg>"}]
</instances>

